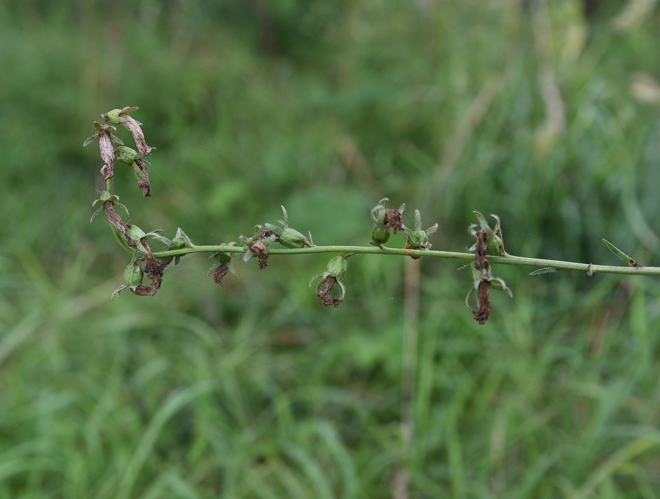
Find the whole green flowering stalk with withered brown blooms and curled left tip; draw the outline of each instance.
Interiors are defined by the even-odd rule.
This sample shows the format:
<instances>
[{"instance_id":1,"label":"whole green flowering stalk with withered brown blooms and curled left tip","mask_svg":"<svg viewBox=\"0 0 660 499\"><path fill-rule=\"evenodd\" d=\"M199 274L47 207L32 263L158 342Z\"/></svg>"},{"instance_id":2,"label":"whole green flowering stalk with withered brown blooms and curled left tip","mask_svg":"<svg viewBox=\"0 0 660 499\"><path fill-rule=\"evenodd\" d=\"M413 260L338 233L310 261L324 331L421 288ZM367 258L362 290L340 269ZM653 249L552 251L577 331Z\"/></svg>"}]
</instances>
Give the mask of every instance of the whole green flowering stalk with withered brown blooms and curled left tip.
<instances>
[{"instance_id":1,"label":"whole green flowering stalk with withered brown blooms and curled left tip","mask_svg":"<svg viewBox=\"0 0 660 499\"><path fill-rule=\"evenodd\" d=\"M99 153L103 162L101 172L107 182L105 191L97 191L100 197L92 204L96 211L92 215L91 221L100 213L105 212L117 242L131 254L131 260L124 272L124 283L113 293L113 297L115 294L119 295L119 292L124 289L129 289L131 293L139 296L155 295L162 285L164 271L167 270L168 266L172 262L175 265L178 264L182 256L186 254L198 252L211 253L214 262L209 270L209 275L219 285L223 285L222 278L226 274L232 274L234 278L238 278L232 263L234 256L242 255L244 262L249 262L253 256L256 256L259 268L263 270L267 267L267 261L271 254L339 253L339 256L331 258L325 272L317 274L310 281L310 288L314 289L321 303L333 307L339 307L345 299L346 287L343 279L348 272L347 258L354 254L409 256L414 259L424 257L465 260L468 263L461 268L469 268L472 278L472 286L467 295L466 303L469 306L469 299L474 293L477 308L473 310L473 314L479 324L484 324L492 311L491 289L505 291L510 297L513 297L512 291L504 280L494 276L491 268L492 264L533 266L537 270L531 272L530 275L532 276L561 270L578 270L586 272L589 276L597 273L660 276L660 267L641 266L636 260L630 258L628 254L605 239L603 239L603 243L607 248L626 262L627 266L593 265L591 263L512 255L504 250L500 218L492 215L496 223L494 228L491 228L486 218L479 212L474 212L479 223L469 227L469 234L473 237L474 244L467 252L432 250L429 237L438 230L438 224L435 223L428 229L423 229L421 214L419 210L414 210L413 226L407 227L403 220L405 204L401 204L398 209L386 208L387 198L382 198L370 212L373 222L370 235L371 246L317 246L312 241L312 233L308 231L308 237L306 237L300 231L289 226L288 213L284 206L282 206L282 220L279 220L279 225L271 223L257 224L253 228L251 237L243 235L239 237L239 245L234 242L226 245L195 245L181 228L176 231L176 235L172 239L167 239L158 230L145 233L137 225L131 224L128 208L121 204L119 196L112 192L114 162L118 160L131 167L135 177L137 177L137 185L140 189L143 189L145 198L150 195L151 186L147 173L149 162L144 158L149 156L156 148L147 145L145 134L141 128L142 124L129 116L129 113L137 109L137 107L123 107L122 109L112 109L112 111L101 115L104 123L94 122L95 131L83 144L86 146L94 140L98 140ZM113 133L116 132L116 127L108 122L114 125L123 125L130 131L137 150L124 146L121 139ZM113 148L113 144L116 145L115 148ZM117 212L116 206L125 212L125 220ZM399 230L406 235L406 247L391 248L385 246L385 243L389 241L390 231L396 234ZM152 250L147 239L160 241L166 249ZM280 245L281 247L273 247L273 245ZM145 276L151 279L149 285L143 285ZM320 280L314 287L314 282L317 279Z\"/></svg>"}]
</instances>

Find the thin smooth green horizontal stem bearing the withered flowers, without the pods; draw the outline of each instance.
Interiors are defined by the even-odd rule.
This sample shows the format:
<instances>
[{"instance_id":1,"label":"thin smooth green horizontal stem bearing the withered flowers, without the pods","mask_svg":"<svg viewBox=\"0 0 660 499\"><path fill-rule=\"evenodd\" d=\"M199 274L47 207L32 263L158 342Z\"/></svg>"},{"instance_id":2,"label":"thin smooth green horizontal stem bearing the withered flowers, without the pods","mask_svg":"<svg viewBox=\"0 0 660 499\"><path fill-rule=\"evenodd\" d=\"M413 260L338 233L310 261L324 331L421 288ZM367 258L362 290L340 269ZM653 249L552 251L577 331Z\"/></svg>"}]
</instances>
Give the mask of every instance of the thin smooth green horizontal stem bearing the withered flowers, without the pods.
<instances>
[{"instance_id":1,"label":"thin smooth green horizontal stem bearing the withered flowers, without the pods","mask_svg":"<svg viewBox=\"0 0 660 499\"><path fill-rule=\"evenodd\" d=\"M156 251L156 258L166 256L180 256L188 253L201 252L228 252L242 253L244 249L240 246L195 246L192 248L182 248L178 250ZM434 258L451 258L453 260L474 260L474 253L463 253L455 251L438 250L412 250L398 248L377 248L371 246L315 246L312 248L270 249L269 254L312 254L312 253L360 253L360 254L383 254L399 256L424 256ZM581 270L583 272L593 272L594 274L632 274L636 276L660 276L660 267L620 267L614 265L591 265L578 262L564 262L562 260L546 260L545 258L529 258L527 256L494 256L488 255L488 262L491 264L522 265L530 267L552 267L556 270Z\"/></svg>"}]
</instances>

